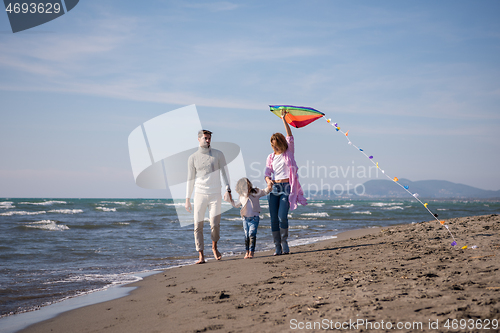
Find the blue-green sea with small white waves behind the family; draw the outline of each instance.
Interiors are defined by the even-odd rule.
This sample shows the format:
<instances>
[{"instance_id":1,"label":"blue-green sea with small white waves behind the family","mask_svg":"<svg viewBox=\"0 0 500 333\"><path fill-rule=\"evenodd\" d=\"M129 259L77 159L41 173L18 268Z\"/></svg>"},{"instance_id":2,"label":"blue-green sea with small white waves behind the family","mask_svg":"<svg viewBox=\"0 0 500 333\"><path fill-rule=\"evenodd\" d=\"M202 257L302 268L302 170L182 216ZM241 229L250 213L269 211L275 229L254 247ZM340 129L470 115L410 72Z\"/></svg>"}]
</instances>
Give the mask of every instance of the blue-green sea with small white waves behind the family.
<instances>
[{"instance_id":1,"label":"blue-green sea with small white waves behind the family","mask_svg":"<svg viewBox=\"0 0 500 333\"><path fill-rule=\"evenodd\" d=\"M427 202L439 219L500 213L496 201ZM193 225L180 225L176 205L183 203L0 199L0 324L14 314L138 281L148 272L193 264L197 260ZM273 248L267 200L261 200L261 207L257 251ZM289 243L308 244L347 230L431 220L434 217L411 198L309 200L289 214ZM204 235L211 257L209 223ZM443 229L443 241L451 243L448 238ZM219 250L226 257L244 252L238 209L222 214Z\"/></svg>"}]
</instances>

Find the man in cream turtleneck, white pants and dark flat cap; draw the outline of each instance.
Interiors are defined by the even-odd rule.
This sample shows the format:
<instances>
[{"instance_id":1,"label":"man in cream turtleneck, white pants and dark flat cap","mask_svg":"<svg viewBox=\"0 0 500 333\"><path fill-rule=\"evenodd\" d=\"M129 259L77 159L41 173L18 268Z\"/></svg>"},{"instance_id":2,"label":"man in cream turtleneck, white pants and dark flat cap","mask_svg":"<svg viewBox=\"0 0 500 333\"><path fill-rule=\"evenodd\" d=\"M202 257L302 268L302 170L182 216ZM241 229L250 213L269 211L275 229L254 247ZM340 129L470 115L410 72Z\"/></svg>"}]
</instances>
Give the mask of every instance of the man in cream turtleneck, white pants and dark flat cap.
<instances>
[{"instance_id":1,"label":"man in cream turtleneck, white pants and dark flat cap","mask_svg":"<svg viewBox=\"0 0 500 333\"><path fill-rule=\"evenodd\" d=\"M217 249L220 232L221 215L221 181L226 186L228 193L231 193L229 187L229 177L226 170L226 159L224 154L210 147L212 141L212 132L201 130L198 132L198 142L200 147L198 151L188 159L188 181L186 190L186 210L191 213L191 195L194 189L194 242L196 251L199 252L197 264L205 262L203 254L203 220L208 208L210 219L210 236L212 238L212 251L217 260L222 258Z\"/></svg>"}]
</instances>

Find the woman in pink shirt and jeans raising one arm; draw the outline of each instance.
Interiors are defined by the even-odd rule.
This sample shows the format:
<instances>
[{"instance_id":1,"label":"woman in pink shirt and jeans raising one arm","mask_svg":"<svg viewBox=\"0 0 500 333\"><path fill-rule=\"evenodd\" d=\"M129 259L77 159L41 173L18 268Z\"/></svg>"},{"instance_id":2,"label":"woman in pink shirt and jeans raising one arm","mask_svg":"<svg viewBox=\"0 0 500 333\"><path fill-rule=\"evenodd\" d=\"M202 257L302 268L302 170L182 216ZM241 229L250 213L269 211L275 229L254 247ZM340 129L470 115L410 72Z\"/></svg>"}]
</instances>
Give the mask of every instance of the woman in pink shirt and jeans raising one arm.
<instances>
[{"instance_id":1,"label":"woman in pink shirt and jeans raising one arm","mask_svg":"<svg viewBox=\"0 0 500 333\"><path fill-rule=\"evenodd\" d=\"M295 163L295 146L292 131L285 120L287 112L281 111L281 119L285 124L286 138L281 133L271 136L271 147L274 153L269 154L266 161L265 179L273 189L268 196L271 213L271 231L273 232L276 252L274 255L288 254L288 210L297 208L297 202L307 205L304 193L299 184L297 163Z\"/></svg>"}]
</instances>

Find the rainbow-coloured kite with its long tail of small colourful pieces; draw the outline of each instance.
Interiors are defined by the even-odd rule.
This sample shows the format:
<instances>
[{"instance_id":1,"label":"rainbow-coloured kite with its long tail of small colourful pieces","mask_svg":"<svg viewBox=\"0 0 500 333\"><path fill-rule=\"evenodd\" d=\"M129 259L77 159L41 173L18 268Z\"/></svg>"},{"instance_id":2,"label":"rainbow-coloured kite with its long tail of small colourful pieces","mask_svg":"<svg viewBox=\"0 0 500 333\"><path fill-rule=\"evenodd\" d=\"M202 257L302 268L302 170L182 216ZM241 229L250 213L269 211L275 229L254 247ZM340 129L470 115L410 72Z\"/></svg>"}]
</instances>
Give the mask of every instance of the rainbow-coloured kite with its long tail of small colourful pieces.
<instances>
[{"instance_id":1,"label":"rainbow-coloured kite with its long tail of small colourful pieces","mask_svg":"<svg viewBox=\"0 0 500 333\"><path fill-rule=\"evenodd\" d=\"M385 171L380 168L379 163L374 161L372 155L366 154L363 151L363 149L361 149L358 146L356 146L349 139L349 131L346 131L346 132L342 131L340 129L340 126L337 123L332 123L332 120L331 119L327 119L326 116L325 116L325 114L323 112L320 112L320 111L315 110L313 108L308 108L308 107L303 107L303 106L293 106L293 105L270 105L270 108L271 108L271 112L273 112L274 114L276 114L278 117L281 117L281 110L286 110L288 112L288 114L285 116L286 122L289 123L290 125L296 127L296 128L304 127L304 126L312 123L313 121L315 121L315 120L317 120L317 119L319 119L321 117L325 118L326 122L329 123L330 125L332 125L333 127L335 127L335 130L337 132L340 132L340 133L344 134L345 138L347 139L347 143L349 145L353 146L361 154L365 155L365 157L368 158L368 160L371 163L373 163L377 167L377 169L380 169L380 171L382 172L382 174L384 174L387 178L389 178L390 180L392 180L393 182L395 182L396 184L398 184L399 186L401 186L401 188L404 189L406 192L408 192L411 196L413 196L415 198L415 200L417 200L418 202L420 202L422 204L422 206L424 206L424 208L427 209L427 211L432 215L432 217L434 217L434 219L436 221L438 221L441 225L443 225L446 228L446 230L449 232L451 238L453 239L453 242L451 243L451 246L457 245L457 241L455 240L455 237L453 237L453 234L451 233L449 226L447 224L445 224L444 221L440 221L438 219L438 214L432 213L432 211L428 207L429 204L422 202L418 198L418 193L412 193L409 190L409 186L408 185L402 185L399 182L398 177L390 177L389 175L387 175L385 173ZM462 249L466 249L466 248L467 248L467 245L465 245L465 246L462 247Z\"/></svg>"}]
</instances>

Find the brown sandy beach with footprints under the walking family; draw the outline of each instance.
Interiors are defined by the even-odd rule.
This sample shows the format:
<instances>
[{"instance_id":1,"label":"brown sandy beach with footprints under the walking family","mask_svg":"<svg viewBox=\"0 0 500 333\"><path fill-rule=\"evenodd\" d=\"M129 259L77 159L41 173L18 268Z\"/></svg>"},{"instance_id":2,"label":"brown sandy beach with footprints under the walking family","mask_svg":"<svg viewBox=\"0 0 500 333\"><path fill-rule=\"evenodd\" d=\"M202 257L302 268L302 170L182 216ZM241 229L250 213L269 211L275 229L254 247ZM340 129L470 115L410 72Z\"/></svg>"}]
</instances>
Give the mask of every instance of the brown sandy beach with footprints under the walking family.
<instances>
[{"instance_id":1,"label":"brown sandy beach with footprints under the walking family","mask_svg":"<svg viewBox=\"0 0 500 333\"><path fill-rule=\"evenodd\" d=\"M285 256L258 252L173 268L134 284L129 296L22 332L465 332L479 325L495 332L499 220L446 220L455 247L430 221L350 231Z\"/></svg>"}]
</instances>

